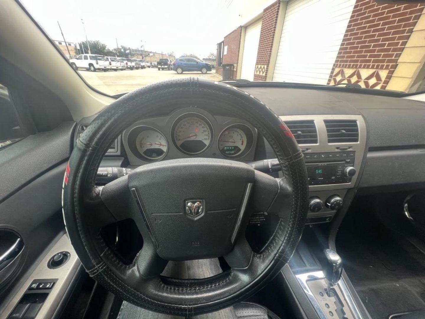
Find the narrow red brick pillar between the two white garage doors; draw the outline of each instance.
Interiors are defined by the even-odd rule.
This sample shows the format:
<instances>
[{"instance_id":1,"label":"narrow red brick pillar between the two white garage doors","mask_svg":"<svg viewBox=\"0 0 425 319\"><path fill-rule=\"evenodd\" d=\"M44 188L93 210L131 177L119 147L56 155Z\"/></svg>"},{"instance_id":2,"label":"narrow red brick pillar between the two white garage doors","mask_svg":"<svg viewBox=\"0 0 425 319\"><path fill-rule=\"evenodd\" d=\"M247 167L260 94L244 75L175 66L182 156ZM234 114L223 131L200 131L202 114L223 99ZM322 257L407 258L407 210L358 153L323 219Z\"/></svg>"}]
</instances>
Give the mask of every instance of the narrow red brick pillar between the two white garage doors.
<instances>
[{"instance_id":1,"label":"narrow red brick pillar between the two white garage doors","mask_svg":"<svg viewBox=\"0 0 425 319\"><path fill-rule=\"evenodd\" d=\"M272 55L276 24L278 23L280 2L276 1L263 11L260 41L258 42L257 61L255 63L254 81L265 81Z\"/></svg>"}]
</instances>

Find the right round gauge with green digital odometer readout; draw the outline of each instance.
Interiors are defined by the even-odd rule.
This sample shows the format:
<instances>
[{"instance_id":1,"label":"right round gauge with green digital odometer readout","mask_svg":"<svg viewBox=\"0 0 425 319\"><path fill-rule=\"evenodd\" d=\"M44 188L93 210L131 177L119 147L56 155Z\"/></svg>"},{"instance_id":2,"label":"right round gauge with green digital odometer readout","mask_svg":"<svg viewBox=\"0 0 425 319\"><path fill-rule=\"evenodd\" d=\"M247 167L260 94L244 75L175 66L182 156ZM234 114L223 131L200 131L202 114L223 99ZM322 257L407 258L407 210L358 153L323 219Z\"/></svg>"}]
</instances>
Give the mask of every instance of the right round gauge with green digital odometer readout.
<instances>
[{"instance_id":1,"label":"right round gauge with green digital odometer readout","mask_svg":"<svg viewBox=\"0 0 425 319\"><path fill-rule=\"evenodd\" d=\"M242 157L252 147L253 134L245 124L232 124L218 137L218 150L225 157Z\"/></svg>"}]
</instances>

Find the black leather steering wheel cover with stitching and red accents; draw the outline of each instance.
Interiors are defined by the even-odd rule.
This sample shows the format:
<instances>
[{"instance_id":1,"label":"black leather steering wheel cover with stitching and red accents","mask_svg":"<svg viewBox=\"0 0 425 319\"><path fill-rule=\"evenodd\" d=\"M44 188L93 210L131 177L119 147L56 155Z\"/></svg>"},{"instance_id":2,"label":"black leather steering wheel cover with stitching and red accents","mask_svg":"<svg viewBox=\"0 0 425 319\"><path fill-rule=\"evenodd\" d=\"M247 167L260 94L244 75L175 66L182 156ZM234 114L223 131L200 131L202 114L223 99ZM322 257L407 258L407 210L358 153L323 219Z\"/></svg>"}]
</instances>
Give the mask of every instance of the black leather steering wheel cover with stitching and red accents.
<instances>
[{"instance_id":1,"label":"black leather steering wheel cover with stitching and red accents","mask_svg":"<svg viewBox=\"0 0 425 319\"><path fill-rule=\"evenodd\" d=\"M188 104L182 104L188 103ZM193 280L187 287L159 278L140 279L134 265L119 262L90 220L90 201L96 171L108 146L136 120L184 106L212 103L248 121L266 138L282 165L283 180L292 192L287 220L280 220L275 234L249 267L207 280ZM195 110L195 108L194 108ZM308 205L308 185L303 154L294 137L271 109L252 95L225 83L197 78L169 80L148 85L106 107L77 140L68 162L62 201L65 225L82 264L90 276L116 296L134 305L179 316L218 310L242 301L265 285L289 261L300 239ZM287 187L287 186L286 186ZM172 281L171 281L172 282ZM176 281L178 282L178 281Z\"/></svg>"}]
</instances>

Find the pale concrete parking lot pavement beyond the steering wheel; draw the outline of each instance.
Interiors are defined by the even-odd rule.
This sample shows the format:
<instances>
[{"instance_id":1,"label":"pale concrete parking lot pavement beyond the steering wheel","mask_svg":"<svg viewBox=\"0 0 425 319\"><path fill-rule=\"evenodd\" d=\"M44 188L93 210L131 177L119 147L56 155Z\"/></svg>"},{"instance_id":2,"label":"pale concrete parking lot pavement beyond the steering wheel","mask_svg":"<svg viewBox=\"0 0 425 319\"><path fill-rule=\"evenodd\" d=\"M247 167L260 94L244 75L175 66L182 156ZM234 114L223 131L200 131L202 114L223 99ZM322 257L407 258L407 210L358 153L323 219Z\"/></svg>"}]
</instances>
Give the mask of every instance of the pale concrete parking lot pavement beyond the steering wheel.
<instances>
[{"instance_id":1,"label":"pale concrete parking lot pavement beyond the steering wheel","mask_svg":"<svg viewBox=\"0 0 425 319\"><path fill-rule=\"evenodd\" d=\"M221 80L221 76L215 74L215 70L202 74L201 72L184 72L177 74L176 71L158 71L156 68L124 71L78 71L88 84L106 94L118 94L133 91L141 86L164 80L179 79L182 77L199 77L208 80Z\"/></svg>"}]
</instances>

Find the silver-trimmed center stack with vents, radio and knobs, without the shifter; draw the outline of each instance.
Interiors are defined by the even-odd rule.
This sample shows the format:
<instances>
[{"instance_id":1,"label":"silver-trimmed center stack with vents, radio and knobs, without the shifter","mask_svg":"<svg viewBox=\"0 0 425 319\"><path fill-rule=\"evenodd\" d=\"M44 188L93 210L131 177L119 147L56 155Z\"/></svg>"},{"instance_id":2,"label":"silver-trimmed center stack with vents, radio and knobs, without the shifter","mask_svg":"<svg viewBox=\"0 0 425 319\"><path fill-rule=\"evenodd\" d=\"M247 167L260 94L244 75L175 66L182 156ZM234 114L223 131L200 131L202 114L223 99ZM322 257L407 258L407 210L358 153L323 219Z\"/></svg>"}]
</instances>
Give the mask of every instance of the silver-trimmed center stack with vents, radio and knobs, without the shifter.
<instances>
[{"instance_id":1,"label":"silver-trimmed center stack with vents, radio and knobs, without the shifter","mask_svg":"<svg viewBox=\"0 0 425 319\"><path fill-rule=\"evenodd\" d=\"M354 188L365 154L366 125L360 115L280 117L303 151L309 180L307 224L330 222ZM271 163L271 167L273 163Z\"/></svg>"}]
</instances>

